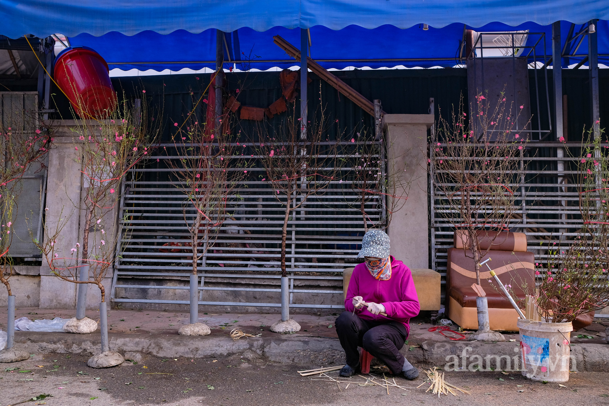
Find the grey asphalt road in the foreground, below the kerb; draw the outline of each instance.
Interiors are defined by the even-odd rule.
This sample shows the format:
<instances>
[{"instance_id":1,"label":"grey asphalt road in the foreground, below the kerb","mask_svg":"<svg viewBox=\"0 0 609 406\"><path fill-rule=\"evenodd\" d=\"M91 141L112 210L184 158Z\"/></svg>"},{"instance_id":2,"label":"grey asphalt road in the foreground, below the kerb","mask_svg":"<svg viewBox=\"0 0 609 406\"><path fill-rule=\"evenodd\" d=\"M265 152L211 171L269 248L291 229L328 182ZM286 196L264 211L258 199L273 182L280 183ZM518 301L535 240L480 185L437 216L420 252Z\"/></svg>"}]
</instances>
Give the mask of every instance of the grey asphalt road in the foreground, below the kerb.
<instances>
[{"instance_id":1,"label":"grey asphalt road in the foreground, below the kerb","mask_svg":"<svg viewBox=\"0 0 609 406\"><path fill-rule=\"evenodd\" d=\"M52 397L23 405L609 405L609 374L571 374L566 387L538 383L519 374L446 372L446 380L471 391L460 396L425 393L426 385L410 392L380 386L358 386L300 377L306 367L267 363L255 354L213 359L145 358L137 364L110 369L86 366L88 357L34 355L30 360L0 365L0 406L33 396ZM15 368L12 371L5 369ZM378 370L375 370L375 372ZM398 385L418 386L396 377ZM502 379L502 380L499 380Z\"/></svg>"}]
</instances>

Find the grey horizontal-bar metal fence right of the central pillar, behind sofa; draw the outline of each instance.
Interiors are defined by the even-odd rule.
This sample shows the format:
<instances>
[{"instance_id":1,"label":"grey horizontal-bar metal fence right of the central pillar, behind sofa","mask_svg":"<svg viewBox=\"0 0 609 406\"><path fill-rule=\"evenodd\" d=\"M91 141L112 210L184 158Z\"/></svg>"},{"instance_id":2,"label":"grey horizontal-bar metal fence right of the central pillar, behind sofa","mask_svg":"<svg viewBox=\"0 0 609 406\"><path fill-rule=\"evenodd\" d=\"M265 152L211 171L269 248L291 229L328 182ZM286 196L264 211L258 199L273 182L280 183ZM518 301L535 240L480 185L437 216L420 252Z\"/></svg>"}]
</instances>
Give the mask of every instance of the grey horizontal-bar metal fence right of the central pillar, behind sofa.
<instances>
[{"instance_id":1,"label":"grey horizontal-bar metal fence right of the central pillar, behind sofa","mask_svg":"<svg viewBox=\"0 0 609 406\"><path fill-rule=\"evenodd\" d=\"M438 146L442 148L446 144L440 141ZM520 162L523 170L520 182L509 185L517 191L519 198L515 215L509 223L510 231L526 234L527 251L535 254L535 261L540 265L547 263L545 247L548 243L556 243L557 247L566 246L571 240L563 237L577 236L577 230L582 229L576 165L581 147L579 143L530 141L519 157L512 158ZM566 150L570 150L572 155L566 154ZM430 154L434 154L433 148ZM432 268L440 272L444 284L446 255L448 248L453 246L454 224L462 223L462 220L455 216L449 221L442 215L451 208L442 204L437 173L435 168L431 169ZM542 241L545 247L540 246Z\"/></svg>"}]
</instances>

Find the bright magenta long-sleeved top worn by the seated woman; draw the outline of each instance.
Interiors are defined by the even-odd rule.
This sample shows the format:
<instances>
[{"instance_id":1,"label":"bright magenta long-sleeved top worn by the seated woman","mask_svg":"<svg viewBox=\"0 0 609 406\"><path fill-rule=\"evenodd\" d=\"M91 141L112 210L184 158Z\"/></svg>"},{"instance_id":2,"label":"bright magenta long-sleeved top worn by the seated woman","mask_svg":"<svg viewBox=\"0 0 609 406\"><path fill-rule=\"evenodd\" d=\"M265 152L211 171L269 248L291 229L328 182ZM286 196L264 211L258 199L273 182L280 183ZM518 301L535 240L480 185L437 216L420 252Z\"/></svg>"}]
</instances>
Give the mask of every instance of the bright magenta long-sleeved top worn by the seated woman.
<instances>
[{"instance_id":1,"label":"bright magenta long-sleeved top worn by the seated woman","mask_svg":"<svg viewBox=\"0 0 609 406\"><path fill-rule=\"evenodd\" d=\"M391 277L389 280L378 280L371 276L365 263L361 263L353 269L347 297L345 298L345 309L353 312L353 297L362 296L365 302L375 302L385 307L387 317L373 315L368 308L355 310L357 316L371 321L399 321L410 332L410 318L417 316L421 310L418 302L415 284L412 282L410 269L403 262L391 257Z\"/></svg>"}]
</instances>

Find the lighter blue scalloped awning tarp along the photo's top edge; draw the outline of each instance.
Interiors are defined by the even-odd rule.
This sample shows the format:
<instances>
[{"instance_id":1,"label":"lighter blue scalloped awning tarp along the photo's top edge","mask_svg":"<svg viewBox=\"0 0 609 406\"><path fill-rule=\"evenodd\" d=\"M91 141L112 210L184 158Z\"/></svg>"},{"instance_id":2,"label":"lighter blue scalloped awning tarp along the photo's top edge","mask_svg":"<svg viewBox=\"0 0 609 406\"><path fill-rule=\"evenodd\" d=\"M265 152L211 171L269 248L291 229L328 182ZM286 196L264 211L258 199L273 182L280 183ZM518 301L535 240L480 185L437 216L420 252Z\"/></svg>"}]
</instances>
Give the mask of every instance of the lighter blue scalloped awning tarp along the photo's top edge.
<instances>
[{"instance_id":1,"label":"lighter blue scalloped awning tarp along the photo's top edge","mask_svg":"<svg viewBox=\"0 0 609 406\"><path fill-rule=\"evenodd\" d=\"M143 31L199 34L210 28L225 32L248 27L340 30L392 25L407 29L426 23L481 27L493 21L509 26L526 22L547 26L566 20L584 24L609 20L607 0L0 0L0 34L69 37L86 32L135 35Z\"/></svg>"}]
</instances>

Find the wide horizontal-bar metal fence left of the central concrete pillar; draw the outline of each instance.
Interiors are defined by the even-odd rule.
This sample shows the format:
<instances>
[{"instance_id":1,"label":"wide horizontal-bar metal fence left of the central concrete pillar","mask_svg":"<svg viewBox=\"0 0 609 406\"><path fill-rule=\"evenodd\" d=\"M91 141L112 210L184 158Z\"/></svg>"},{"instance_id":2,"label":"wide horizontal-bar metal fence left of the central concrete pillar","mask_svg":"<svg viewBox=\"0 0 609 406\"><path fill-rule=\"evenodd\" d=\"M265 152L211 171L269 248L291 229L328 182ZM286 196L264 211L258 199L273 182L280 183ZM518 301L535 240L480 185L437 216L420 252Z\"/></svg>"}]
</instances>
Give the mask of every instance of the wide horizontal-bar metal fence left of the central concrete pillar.
<instances>
[{"instance_id":1,"label":"wide horizontal-bar metal fence left of the central concrete pillar","mask_svg":"<svg viewBox=\"0 0 609 406\"><path fill-rule=\"evenodd\" d=\"M379 146L377 141L367 144ZM379 153L370 156L379 159ZM239 162L247 157L245 153L231 158ZM143 168L133 169L123 185L121 244L111 293L115 302L188 303L192 243L187 224L196 212L186 204L186 185L172 177L170 161L177 159L171 154L153 156ZM238 163L235 166L240 170ZM203 238L209 248L197 266L199 304L281 305L286 196L278 196L262 180L265 170L259 166L248 167L247 179L227 196L227 218ZM353 168L345 166L339 173L323 193L309 196L288 218L290 307L343 307L342 271L356 265L365 228ZM297 194L294 198L300 203ZM363 204L368 226L384 222L384 198L378 190L368 186Z\"/></svg>"}]
</instances>

